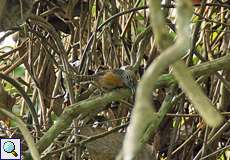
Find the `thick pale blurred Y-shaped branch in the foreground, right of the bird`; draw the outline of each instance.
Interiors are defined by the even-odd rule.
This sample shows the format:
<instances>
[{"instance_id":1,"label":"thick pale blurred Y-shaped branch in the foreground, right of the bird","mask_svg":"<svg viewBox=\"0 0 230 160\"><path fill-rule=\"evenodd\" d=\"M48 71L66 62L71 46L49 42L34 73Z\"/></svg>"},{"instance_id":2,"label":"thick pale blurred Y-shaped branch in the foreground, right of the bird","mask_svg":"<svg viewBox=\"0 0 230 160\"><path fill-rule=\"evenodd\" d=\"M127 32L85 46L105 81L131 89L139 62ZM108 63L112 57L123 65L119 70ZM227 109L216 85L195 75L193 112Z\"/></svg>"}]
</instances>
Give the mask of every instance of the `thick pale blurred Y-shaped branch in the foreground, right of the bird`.
<instances>
[{"instance_id":1,"label":"thick pale blurred Y-shaped branch in the foreground, right of the bird","mask_svg":"<svg viewBox=\"0 0 230 160\"><path fill-rule=\"evenodd\" d=\"M121 153L125 160L131 160L136 156L148 140L150 133L158 128L162 117L166 114L165 111L162 114L156 113L151 103L152 90L156 86L158 77L170 64L180 59L190 47L188 33L192 16L192 3L191 1L178 0L176 4L178 37L176 43L172 45L160 1L149 1L150 20L155 40L161 49L167 49L149 66L137 87L136 103ZM170 45L172 46L169 47ZM119 156L118 159L121 159L122 156Z\"/></svg>"}]
</instances>

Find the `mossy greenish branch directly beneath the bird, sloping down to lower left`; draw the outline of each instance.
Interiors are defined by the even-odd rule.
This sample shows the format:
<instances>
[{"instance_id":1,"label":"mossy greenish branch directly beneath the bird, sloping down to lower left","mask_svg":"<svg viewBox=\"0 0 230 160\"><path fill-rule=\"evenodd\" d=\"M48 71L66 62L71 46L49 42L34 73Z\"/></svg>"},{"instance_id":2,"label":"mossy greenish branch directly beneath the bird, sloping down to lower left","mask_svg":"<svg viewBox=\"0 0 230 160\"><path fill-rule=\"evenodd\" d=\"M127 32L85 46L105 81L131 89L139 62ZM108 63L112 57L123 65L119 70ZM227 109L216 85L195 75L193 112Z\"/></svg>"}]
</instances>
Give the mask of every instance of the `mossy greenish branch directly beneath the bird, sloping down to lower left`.
<instances>
[{"instance_id":1,"label":"mossy greenish branch directly beneath the bird, sloping down to lower left","mask_svg":"<svg viewBox=\"0 0 230 160\"><path fill-rule=\"evenodd\" d=\"M70 126L73 119L80 113L89 113L95 109L103 108L106 104L112 101L127 98L130 95L131 91L128 89L119 89L106 93L101 97L92 97L91 99L83 100L79 103L68 106L57 122L37 142L39 152L43 152L63 130Z\"/></svg>"}]
</instances>

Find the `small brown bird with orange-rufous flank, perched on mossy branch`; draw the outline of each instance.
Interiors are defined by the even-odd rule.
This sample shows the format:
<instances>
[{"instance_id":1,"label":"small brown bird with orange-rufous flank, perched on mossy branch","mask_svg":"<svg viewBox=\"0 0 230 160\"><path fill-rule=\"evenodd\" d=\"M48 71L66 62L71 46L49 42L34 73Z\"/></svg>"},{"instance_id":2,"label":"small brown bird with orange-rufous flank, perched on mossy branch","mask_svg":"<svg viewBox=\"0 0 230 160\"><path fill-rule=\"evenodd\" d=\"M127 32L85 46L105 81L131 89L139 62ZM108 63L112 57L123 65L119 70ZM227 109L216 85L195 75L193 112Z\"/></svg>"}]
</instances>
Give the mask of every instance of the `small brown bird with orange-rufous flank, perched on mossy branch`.
<instances>
[{"instance_id":1,"label":"small brown bird with orange-rufous flank, perched on mossy branch","mask_svg":"<svg viewBox=\"0 0 230 160\"><path fill-rule=\"evenodd\" d=\"M93 75L77 75L74 76L74 80L76 83L93 81L99 88L106 91L129 88L132 93L135 93L137 86L137 77L129 69L110 69L97 72Z\"/></svg>"}]
</instances>

